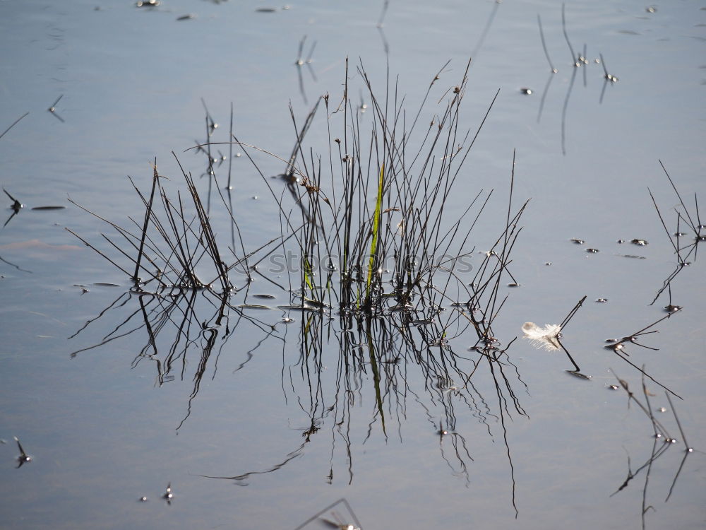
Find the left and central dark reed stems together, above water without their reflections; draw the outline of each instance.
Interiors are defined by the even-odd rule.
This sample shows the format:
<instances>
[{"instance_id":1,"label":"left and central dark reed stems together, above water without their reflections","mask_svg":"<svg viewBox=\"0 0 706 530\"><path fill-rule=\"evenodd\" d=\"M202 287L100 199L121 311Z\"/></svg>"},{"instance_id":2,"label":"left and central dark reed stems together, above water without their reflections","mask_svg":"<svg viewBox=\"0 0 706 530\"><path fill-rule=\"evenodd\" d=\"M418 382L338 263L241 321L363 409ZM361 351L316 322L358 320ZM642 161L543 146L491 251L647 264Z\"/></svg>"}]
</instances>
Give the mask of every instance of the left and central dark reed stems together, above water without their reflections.
<instances>
[{"instance_id":1,"label":"left and central dark reed stems together, above water without their reflections","mask_svg":"<svg viewBox=\"0 0 706 530\"><path fill-rule=\"evenodd\" d=\"M232 131L232 118L230 141L225 142L229 144L229 156L215 157L217 144L224 142L210 141L217 125L204 102L207 142L192 149L208 156L208 168L202 175L208 177L205 199L178 159L188 195L183 197L177 192L172 199L165 187L170 181L157 172L155 160L148 193L140 191L131 179L144 214L139 220L128 218L130 228L80 206L116 231L117 236L101 235L119 253L118 257L110 257L75 232L71 233L123 271L133 282L134 292L155 296L162 308L157 315L169 314L164 307L177 307L181 300L189 321L196 319L191 293L199 290L213 296L211 305L217 308L217 315L206 319L208 322L227 321L234 309L241 314L241 308L247 304L234 307L230 297L249 285L252 275L268 278L268 268L253 263L261 263L281 248L292 250L299 257L299 267L288 271L292 302L288 308L329 316L337 314L340 329L357 328L366 342L373 343L378 343L376 330L381 329L373 322L377 319L387 319L390 325L395 322L399 331L406 329L409 336L419 336L424 348L448 348L451 338L472 328L476 341L471 349L481 355L480 360L501 366L498 360L507 357L512 341L501 348L501 341L493 333L493 321L507 298L501 298L505 278L512 281L510 285L518 285L509 270L510 253L522 230L519 221L527 201L518 208L513 206L513 155L504 226L501 225L490 249L482 253L483 259L476 266L469 266L475 252L475 247L469 248L471 232L489 203L492 190L481 189L469 195L460 216L448 213L452 209L448 202L460 176L466 179L469 152L498 95L489 103L475 130L462 128L461 108L467 92L469 65L470 61L457 84L441 89L437 112L431 114L431 119L424 119L422 112L448 62L431 79L419 108L408 112L397 81L391 82L388 73L384 94L378 95L362 63L357 66L357 74L370 105L353 102L349 98L346 61L346 82L335 107L328 94L322 96L301 125L290 108L297 138L289 158L280 159L286 164L281 175L283 189L273 187L272 179L251 155L253 150L268 151L239 141ZM321 108L325 108L328 131L324 155L316 154L304 144ZM340 130L340 135L336 136L334 130ZM280 211L280 237L253 252L245 251L229 201L232 146L236 144L261 175ZM225 160L229 160L229 184L221 187L216 172ZM232 225L231 245L226 245L232 254L228 263L222 254L224 245L217 241L212 226L213 189L217 190L220 205L226 209ZM222 189L227 190L228 199ZM259 254L256 262L255 254ZM459 264L466 269L460 270ZM241 287L235 286L234 271L245 274ZM156 325L150 318L145 319L151 322L148 329ZM176 326L179 336L184 335L184 325ZM314 334L309 326L304 329L301 337L304 350L320 343L324 329L323 326L316 329L321 336ZM186 343L190 341L189 338ZM405 343L409 346L412 342ZM150 355L156 355L152 338L148 346L149 351L153 350ZM420 351L418 347L413 349ZM172 345L169 350L181 351L181 347ZM474 363L470 375L476 367ZM163 375L160 372L160 378ZM470 375L462 378L467 382ZM503 386L513 393L508 379L504 376L503 379ZM522 413L519 405L517 411Z\"/></svg>"}]
</instances>

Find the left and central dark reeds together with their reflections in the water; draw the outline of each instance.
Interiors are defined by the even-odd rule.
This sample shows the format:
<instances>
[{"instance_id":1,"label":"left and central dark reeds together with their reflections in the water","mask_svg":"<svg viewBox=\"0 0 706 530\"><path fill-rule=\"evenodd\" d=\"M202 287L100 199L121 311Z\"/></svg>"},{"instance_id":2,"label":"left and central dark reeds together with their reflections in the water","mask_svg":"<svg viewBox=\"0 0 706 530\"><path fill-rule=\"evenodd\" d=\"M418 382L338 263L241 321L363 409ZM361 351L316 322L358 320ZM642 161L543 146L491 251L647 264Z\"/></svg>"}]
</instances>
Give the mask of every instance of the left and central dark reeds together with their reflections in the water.
<instances>
[{"instance_id":1,"label":"left and central dark reeds together with their reflections in the water","mask_svg":"<svg viewBox=\"0 0 706 530\"><path fill-rule=\"evenodd\" d=\"M202 378L209 370L215 376L215 361L236 331L241 336L245 331L256 343L234 372L249 363L262 344L282 341L282 389L285 394L292 389L294 401L310 423L296 447L272 466L220 478L246 481L281 469L301 454L326 423L334 443L342 442L342 451L350 454L350 418L365 401L372 404L368 436L373 423L380 425L385 438L400 423L401 436L401 421L412 395L428 413L438 411L429 416L430 428L440 440L448 440L452 450L442 449L442 457L467 483L472 455L457 430L460 409L477 418L489 433L491 423L500 425L512 473L506 420L526 414L515 391L517 382L524 382L508 354L514 339L498 338L493 323L507 299L503 292L508 282L518 285L510 272L510 255L522 231L520 219L527 201L513 204L513 155L506 211L501 210L489 247L477 252L472 230L493 191L469 194L460 215L453 213L457 204L451 203L460 180L462 192L467 193L469 153L498 94L477 127L464 129L468 65L456 84L439 88L440 93L432 97L446 66L433 76L419 108L412 112L406 109L397 81L390 81L388 74L383 93L378 93L362 64L357 73L369 104L364 108L352 101L349 93L357 90L349 87L346 66L337 104L329 95L322 96L303 123L297 123L290 110L296 140L289 158L280 159L285 170L279 187L258 167L252 153L275 155L239 141L232 125L228 142L212 141L215 120L206 110L206 141L192 152L208 158L202 175L208 178L208 195L201 194L191 175L181 169L187 194L177 193L172 199L173 192L167 190L172 181L157 172L155 161L149 192L141 192L133 183L144 213L138 220L128 218L130 228L90 212L115 230L117 236L102 237L118 252L117 257L82 241L133 282L131 293L102 314L127 312L134 300L139 307L100 343L73 355L145 330L147 341L133 365L155 363L157 381L162 384L175 376L184 378L187 354L200 351L198 362L190 363L196 370L186 420ZM432 99L438 104L427 119L422 114ZM328 145L316 150L305 139L321 110L325 110ZM215 155L220 155L218 143L229 144L227 157ZM279 212L279 237L252 252L246 252L239 237L229 201L234 146L251 161ZM218 184L221 165L228 168L227 186ZM212 204L213 190L220 201ZM215 208L227 211L232 229L229 245L217 240ZM277 283L265 261L275 249L299 257L298 266L285 275L289 288L280 285L281 280ZM248 304L251 279L256 276L280 287L289 305ZM241 298L241 304L234 301ZM265 317L256 318L249 314L253 308L282 310L287 317L279 315L277 322L268 319L273 313L263 312L258 316ZM294 310L297 314L291 319ZM284 353L290 322L299 324L299 355L294 358ZM292 377L296 371L301 374L300 383ZM350 460L347 471L352 481ZM333 476L332 462L328 481L333 482Z\"/></svg>"}]
</instances>

